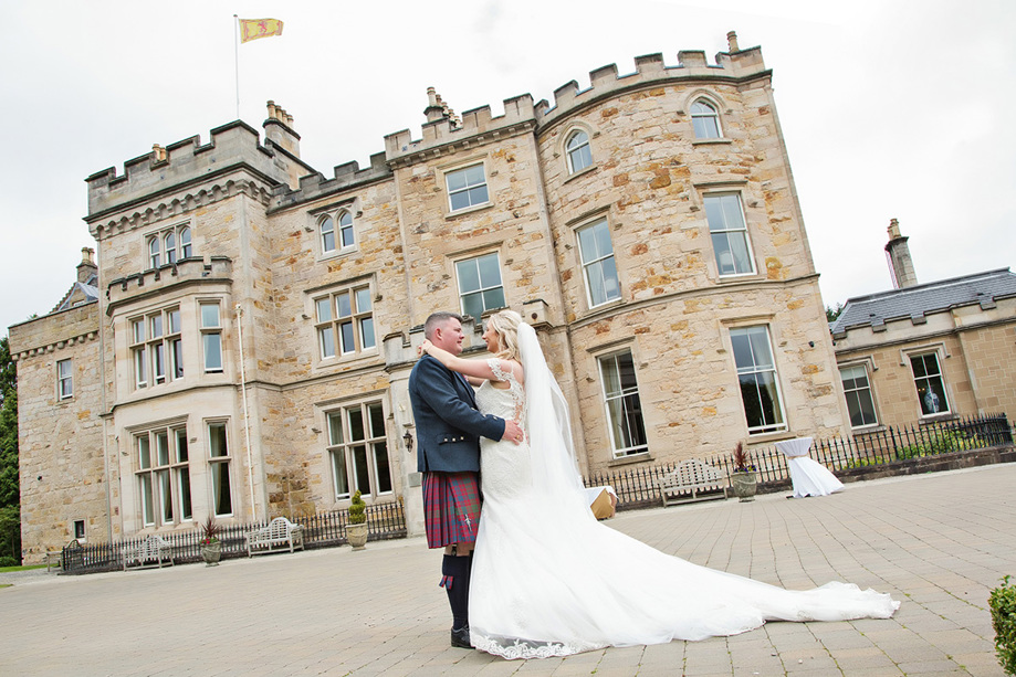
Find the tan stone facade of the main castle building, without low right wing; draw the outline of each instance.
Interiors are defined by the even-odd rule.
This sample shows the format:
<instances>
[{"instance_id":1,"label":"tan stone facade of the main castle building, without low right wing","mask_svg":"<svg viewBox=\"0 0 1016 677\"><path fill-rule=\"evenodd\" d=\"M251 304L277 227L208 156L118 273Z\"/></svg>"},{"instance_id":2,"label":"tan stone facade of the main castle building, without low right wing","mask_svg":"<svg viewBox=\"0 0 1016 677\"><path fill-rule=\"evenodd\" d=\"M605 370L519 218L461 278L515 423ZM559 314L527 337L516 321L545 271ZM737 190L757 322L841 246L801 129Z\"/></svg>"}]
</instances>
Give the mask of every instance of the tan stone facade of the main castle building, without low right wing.
<instances>
[{"instance_id":1,"label":"tan stone facade of the main castle building, without low right wing","mask_svg":"<svg viewBox=\"0 0 1016 677\"><path fill-rule=\"evenodd\" d=\"M496 117L430 91L419 138L332 178L271 102L263 141L235 121L88 177L97 298L11 328L27 559L356 489L421 531L436 309L476 355L493 309L537 328L584 472L844 434L772 73L730 40Z\"/></svg>"}]
</instances>

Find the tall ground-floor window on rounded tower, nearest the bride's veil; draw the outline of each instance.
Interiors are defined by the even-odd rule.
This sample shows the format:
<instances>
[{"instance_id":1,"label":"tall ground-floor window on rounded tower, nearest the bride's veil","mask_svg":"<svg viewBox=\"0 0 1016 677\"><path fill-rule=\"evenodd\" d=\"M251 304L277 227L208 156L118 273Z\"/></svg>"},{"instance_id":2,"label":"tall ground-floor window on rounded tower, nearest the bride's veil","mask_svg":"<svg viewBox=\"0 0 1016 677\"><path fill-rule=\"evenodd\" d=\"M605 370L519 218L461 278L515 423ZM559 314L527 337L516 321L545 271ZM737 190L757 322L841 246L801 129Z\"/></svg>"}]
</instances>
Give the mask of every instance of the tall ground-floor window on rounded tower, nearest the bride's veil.
<instances>
[{"instance_id":1,"label":"tall ground-floor window on rounded tower, nearest the bride's veil","mask_svg":"<svg viewBox=\"0 0 1016 677\"><path fill-rule=\"evenodd\" d=\"M604 356L598 362L614 456L631 456L648 452L642 402L639 398L639 384L631 352L626 350Z\"/></svg>"}]
</instances>

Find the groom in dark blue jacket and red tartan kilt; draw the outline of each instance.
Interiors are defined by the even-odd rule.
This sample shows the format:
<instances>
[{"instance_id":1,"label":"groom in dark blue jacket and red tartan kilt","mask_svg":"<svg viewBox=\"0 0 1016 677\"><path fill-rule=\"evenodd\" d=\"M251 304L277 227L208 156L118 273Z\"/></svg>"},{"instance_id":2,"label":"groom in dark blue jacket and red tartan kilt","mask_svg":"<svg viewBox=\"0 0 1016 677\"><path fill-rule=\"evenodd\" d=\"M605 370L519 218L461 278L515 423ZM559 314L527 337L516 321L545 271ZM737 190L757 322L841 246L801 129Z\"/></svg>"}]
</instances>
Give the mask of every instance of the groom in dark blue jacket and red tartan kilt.
<instances>
[{"instance_id":1,"label":"groom in dark blue jacket and red tartan kilt","mask_svg":"<svg viewBox=\"0 0 1016 677\"><path fill-rule=\"evenodd\" d=\"M423 336L452 355L462 352L462 317L434 313ZM427 546L444 548L441 583L451 605L451 645L469 642L469 575L480 526L480 437L517 441L514 421L476 411L472 385L425 355L409 374L409 401L417 425L417 469L423 473Z\"/></svg>"}]
</instances>

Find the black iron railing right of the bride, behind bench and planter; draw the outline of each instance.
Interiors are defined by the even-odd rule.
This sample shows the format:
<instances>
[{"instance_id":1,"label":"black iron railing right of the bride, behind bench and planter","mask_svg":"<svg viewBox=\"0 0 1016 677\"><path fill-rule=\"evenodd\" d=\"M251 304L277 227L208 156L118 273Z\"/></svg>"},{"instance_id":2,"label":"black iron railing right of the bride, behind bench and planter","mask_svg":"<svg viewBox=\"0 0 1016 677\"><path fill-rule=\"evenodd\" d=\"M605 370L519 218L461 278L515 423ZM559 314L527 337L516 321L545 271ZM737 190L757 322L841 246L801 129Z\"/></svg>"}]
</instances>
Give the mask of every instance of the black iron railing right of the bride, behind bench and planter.
<instances>
[{"instance_id":1,"label":"black iron railing right of the bride, behind bench and planter","mask_svg":"<svg viewBox=\"0 0 1016 677\"><path fill-rule=\"evenodd\" d=\"M962 453L1013 444L1013 429L1005 414L960 417L950 421L915 423L884 427L851 437L815 440L811 457L832 472L855 468L887 467L907 464L917 458L946 453ZM786 456L775 446L757 447L746 453L747 463L755 466L760 490L778 490L789 486ZM732 454L726 452L701 458L729 477L734 469ZM659 482L672 473L679 462L649 467L591 473L585 478L587 487L610 485L618 496L618 509L642 508L661 503Z\"/></svg>"}]
</instances>

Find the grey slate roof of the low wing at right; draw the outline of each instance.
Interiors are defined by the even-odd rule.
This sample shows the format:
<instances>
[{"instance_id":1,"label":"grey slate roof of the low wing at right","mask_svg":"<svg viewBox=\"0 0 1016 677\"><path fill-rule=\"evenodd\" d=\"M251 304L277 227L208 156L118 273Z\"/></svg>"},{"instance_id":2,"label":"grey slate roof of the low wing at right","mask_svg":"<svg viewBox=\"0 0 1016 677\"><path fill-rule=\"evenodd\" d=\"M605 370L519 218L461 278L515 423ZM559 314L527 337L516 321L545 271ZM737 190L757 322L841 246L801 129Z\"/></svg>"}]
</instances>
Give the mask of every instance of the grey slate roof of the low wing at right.
<instances>
[{"instance_id":1,"label":"grey slate roof of the low wing at right","mask_svg":"<svg viewBox=\"0 0 1016 677\"><path fill-rule=\"evenodd\" d=\"M841 335L856 327L874 327L892 319L923 318L931 313L973 304L981 304L987 309L993 307L995 299L1007 296L1016 296L1016 274L1008 268L998 268L849 298L829 329L834 336Z\"/></svg>"}]
</instances>

